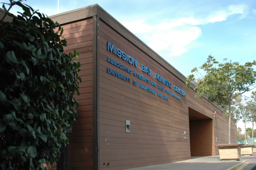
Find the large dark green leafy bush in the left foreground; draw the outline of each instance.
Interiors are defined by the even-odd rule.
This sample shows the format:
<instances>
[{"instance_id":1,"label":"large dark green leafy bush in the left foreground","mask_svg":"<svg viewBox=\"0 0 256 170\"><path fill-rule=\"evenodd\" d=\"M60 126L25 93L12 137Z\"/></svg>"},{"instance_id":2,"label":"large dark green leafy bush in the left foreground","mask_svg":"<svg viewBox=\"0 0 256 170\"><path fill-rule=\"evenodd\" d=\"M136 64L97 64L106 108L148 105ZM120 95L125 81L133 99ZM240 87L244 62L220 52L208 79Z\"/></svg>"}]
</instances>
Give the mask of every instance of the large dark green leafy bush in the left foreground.
<instances>
[{"instance_id":1,"label":"large dark green leafy bush in the left foreground","mask_svg":"<svg viewBox=\"0 0 256 170\"><path fill-rule=\"evenodd\" d=\"M45 169L58 160L77 116L81 65L73 58L80 54L63 53L58 23L20 1L9 5L24 12L0 21L0 169Z\"/></svg>"}]
</instances>

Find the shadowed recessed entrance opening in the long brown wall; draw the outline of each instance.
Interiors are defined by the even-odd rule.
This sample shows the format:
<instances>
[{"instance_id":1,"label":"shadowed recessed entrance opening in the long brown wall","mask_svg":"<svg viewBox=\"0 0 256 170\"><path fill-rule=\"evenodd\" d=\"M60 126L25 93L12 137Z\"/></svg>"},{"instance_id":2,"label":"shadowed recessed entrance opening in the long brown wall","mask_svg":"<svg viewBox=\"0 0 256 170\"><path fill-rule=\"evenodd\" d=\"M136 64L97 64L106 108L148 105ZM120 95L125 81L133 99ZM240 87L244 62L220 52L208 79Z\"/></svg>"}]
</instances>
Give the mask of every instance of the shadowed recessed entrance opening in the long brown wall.
<instances>
[{"instance_id":1,"label":"shadowed recessed entrance opening in the long brown wall","mask_svg":"<svg viewBox=\"0 0 256 170\"><path fill-rule=\"evenodd\" d=\"M215 155L212 118L189 107L189 135L191 156Z\"/></svg>"}]
</instances>

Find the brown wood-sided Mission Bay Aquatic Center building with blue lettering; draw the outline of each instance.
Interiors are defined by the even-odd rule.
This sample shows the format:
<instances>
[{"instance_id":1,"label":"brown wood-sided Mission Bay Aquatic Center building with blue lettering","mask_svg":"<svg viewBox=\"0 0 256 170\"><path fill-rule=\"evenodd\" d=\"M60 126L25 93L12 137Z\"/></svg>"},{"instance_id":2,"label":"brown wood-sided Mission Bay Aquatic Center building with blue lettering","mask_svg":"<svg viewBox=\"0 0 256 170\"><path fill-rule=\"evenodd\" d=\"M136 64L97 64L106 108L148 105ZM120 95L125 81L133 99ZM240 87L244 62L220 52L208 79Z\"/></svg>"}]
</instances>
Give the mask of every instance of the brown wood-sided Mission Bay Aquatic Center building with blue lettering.
<instances>
[{"instance_id":1,"label":"brown wood-sided Mission Bay Aquatic Center building with blue lettering","mask_svg":"<svg viewBox=\"0 0 256 170\"><path fill-rule=\"evenodd\" d=\"M79 61L79 118L68 133L68 170L123 170L218 155L228 143L221 107L198 100L186 77L93 5L51 16ZM214 112L217 114L214 116ZM236 123L231 123L237 143Z\"/></svg>"}]
</instances>

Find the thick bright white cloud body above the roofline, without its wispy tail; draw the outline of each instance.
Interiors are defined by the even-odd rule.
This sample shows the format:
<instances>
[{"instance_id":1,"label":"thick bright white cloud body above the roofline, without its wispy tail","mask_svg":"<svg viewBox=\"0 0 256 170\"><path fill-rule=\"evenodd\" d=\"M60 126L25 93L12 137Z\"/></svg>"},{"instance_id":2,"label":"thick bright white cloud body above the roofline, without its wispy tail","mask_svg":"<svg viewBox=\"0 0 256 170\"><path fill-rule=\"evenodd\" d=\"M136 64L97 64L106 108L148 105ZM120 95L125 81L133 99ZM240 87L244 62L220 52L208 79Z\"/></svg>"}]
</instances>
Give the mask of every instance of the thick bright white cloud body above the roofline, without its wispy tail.
<instances>
[{"instance_id":1,"label":"thick bright white cloud body above the roofline, without its wispy tail","mask_svg":"<svg viewBox=\"0 0 256 170\"><path fill-rule=\"evenodd\" d=\"M199 27L188 25L183 20L184 18L155 26L149 26L142 20L122 24L131 32L141 34L145 43L154 51L169 49L169 55L177 56L187 52L191 48L192 41L201 35ZM190 47L187 47L189 45Z\"/></svg>"}]
</instances>

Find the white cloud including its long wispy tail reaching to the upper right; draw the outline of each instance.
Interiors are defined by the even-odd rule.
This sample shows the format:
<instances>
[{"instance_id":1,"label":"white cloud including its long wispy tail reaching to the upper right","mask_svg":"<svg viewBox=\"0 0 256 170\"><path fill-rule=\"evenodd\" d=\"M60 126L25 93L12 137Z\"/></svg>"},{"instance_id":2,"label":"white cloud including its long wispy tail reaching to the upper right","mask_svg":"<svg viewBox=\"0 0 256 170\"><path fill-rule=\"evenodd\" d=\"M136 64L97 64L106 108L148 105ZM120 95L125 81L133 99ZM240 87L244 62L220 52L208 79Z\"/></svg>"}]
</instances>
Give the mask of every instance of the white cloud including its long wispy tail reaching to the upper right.
<instances>
[{"instance_id":1,"label":"white cloud including its long wispy tail reaching to the upper right","mask_svg":"<svg viewBox=\"0 0 256 170\"><path fill-rule=\"evenodd\" d=\"M140 36L155 52L167 50L169 56L178 56L198 46L194 42L202 35L199 25L227 20L230 15L246 15L247 6L230 5L226 10L211 12L205 17L182 17L149 25L144 20L122 22L131 32Z\"/></svg>"}]
</instances>

